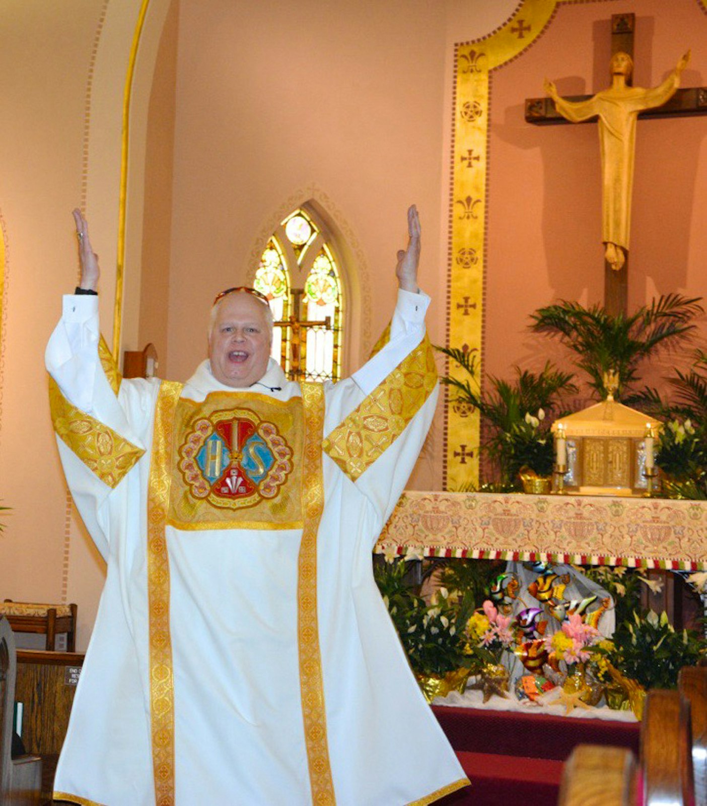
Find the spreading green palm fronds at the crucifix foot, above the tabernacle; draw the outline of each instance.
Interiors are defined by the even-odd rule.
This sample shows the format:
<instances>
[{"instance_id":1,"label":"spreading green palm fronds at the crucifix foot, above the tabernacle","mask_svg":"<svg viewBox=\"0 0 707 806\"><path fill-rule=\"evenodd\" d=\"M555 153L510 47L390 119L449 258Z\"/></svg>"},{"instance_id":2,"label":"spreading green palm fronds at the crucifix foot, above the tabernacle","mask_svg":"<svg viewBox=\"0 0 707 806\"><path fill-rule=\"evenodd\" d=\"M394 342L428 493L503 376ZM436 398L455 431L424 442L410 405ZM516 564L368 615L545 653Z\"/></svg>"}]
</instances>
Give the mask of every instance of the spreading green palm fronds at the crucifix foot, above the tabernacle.
<instances>
[{"instance_id":1,"label":"spreading green palm fronds at the crucifix foot, above the tabernacle","mask_svg":"<svg viewBox=\"0 0 707 806\"><path fill-rule=\"evenodd\" d=\"M701 297L664 294L635 314L616 316L602 305L585 308L579 302L560 301L531 314L532 329L556 336L575 354L575 365L589 375L589 385L600 399L607 395L607 372L618 373L618 393L626 397L639 379L641 362L660 349L684 344L693 337L693 319L704 313Z\"/></svg>"}]
</instances>

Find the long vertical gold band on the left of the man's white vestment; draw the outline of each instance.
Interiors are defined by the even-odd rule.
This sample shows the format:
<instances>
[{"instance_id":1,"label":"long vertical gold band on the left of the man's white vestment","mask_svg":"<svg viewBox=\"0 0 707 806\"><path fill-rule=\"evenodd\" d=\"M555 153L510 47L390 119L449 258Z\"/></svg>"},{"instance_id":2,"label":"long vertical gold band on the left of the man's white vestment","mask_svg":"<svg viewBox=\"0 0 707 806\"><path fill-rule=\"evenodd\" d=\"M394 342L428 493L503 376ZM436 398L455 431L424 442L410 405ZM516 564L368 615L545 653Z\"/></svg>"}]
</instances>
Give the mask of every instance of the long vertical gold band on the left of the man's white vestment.
<instances>
[{"instance_id":1,"label":"long vertical gold band on the left of the man's white vestment","mask_svg":"<svg viewBox=\"0 0 707 806\"><path fill-rule=\"evenodd\" d=\"M155 806L174 804L174 676L169 629L167 506L174 415L182 384L163 381L155 406L147 496L147 600L150 621L150 716Z\"/></svg>"}]
</instances>

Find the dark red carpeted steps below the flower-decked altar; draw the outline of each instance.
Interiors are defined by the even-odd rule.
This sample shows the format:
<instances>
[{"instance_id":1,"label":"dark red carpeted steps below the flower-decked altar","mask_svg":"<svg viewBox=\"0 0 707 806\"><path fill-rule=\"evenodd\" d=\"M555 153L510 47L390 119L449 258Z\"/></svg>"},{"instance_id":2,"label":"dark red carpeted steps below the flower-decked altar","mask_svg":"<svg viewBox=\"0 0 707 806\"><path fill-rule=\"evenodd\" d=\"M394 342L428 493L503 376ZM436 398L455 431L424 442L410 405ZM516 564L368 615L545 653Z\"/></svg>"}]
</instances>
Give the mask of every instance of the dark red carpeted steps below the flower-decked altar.
<instances>
[{"instance_id":1,"label":"dark red carpeted steps below the flower-decked altar","mask_svg":"<svg viewBox=\"0 0 707 806\"><path fill-rule=\"evenodd\" d=\"M639 754L639 724L546 714L434 706L470 787L440 806L552 806L562 764L578 744L628 747Z\"/></svg>"}]
</instances>

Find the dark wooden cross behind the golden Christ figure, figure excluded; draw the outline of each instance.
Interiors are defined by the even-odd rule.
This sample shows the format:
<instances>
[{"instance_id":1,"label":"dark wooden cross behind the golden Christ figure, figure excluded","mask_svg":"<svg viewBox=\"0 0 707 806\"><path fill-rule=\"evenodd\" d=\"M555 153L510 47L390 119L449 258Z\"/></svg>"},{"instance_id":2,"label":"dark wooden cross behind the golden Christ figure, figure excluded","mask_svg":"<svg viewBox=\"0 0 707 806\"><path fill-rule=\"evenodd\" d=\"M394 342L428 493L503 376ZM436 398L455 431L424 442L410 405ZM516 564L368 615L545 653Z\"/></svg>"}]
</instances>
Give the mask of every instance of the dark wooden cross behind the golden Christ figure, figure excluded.
<instances>
[{"instance_id":1,"label":"dark wooden cross behind the golden Christ figure, figure excluded","mask_svg":"<svg viewBox=\"0 0 707 806\"><path fill-rule=\"evenodd\" d=\"M620 51L628 53L633 59L634 53L634 14L614 14L611 16L611 55ZM629 83L628 81L626 83ZM568 96L568 101L587 101L590 95ZM693 114L707 114L707 87L688 87L678 89L672 98L663 106L657 106L639 113L639 118L684 117ZM556 110L552 98L526 98L525 119L527 123L546 126L568 121ZM589 118L586 123L596 118ZM604 261L604 306L609 314L626 314L626 296L628 290L628 260L616 271Z\"/></svg>"}]
</instances>

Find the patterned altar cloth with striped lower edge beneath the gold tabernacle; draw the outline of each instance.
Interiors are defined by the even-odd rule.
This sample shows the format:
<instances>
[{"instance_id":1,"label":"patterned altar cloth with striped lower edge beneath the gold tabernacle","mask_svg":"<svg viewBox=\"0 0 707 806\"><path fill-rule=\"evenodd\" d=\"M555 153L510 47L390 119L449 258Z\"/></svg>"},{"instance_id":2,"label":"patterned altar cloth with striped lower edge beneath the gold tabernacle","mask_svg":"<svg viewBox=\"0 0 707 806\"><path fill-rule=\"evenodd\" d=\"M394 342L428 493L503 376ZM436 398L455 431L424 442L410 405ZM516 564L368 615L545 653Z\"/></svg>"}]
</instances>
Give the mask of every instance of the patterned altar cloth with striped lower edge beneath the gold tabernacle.
<instances>
[{"instance_id":1,"label":"patterned altar cloth with striped lower edge beneath the gold tabernacle","mask_svg":"<svg viewBox=\"0 0 707 806\"><path fill-rule=\"evenodd\" d=\"M707 501L408 491L374 550L707 571Z\"/></svg>"}]
</instances>

